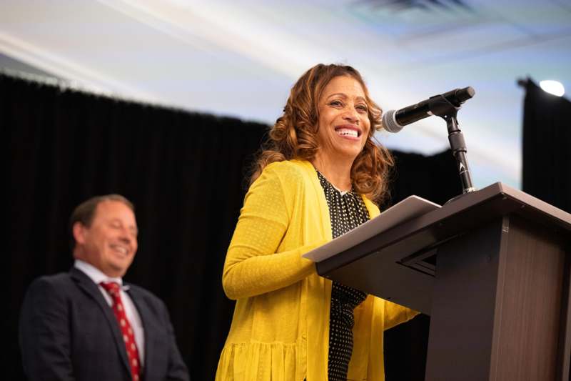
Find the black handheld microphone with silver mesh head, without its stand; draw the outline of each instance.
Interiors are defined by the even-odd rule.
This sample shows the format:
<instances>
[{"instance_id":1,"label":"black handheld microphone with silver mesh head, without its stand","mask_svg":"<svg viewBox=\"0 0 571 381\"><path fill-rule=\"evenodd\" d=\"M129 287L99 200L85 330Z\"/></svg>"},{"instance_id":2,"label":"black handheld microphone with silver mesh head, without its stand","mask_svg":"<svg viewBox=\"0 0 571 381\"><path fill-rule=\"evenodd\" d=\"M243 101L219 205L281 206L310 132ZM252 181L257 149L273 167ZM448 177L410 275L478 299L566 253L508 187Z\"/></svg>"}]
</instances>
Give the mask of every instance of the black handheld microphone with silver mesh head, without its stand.
<instances>
[{"instance_id":1,"label":"black handheld microphone with silver mesh head, without its stand","mask_svg":"<svg viewBox=\"0 0 571 381\"><path fill-rule=\"evenodd\" d=\"M461 104L474 97L474 94L476 94L476 91L468 86L464 89L454 89L444 94L435 95L425 99L423 102L404 107L403 109L389 110L383 114L383 127L388 132L399 132L407 124L430 117L433 114L430 112L430 104L434 102L435 98L444 97L454 107L459 108Z\"/></svg>"}]
</instances>

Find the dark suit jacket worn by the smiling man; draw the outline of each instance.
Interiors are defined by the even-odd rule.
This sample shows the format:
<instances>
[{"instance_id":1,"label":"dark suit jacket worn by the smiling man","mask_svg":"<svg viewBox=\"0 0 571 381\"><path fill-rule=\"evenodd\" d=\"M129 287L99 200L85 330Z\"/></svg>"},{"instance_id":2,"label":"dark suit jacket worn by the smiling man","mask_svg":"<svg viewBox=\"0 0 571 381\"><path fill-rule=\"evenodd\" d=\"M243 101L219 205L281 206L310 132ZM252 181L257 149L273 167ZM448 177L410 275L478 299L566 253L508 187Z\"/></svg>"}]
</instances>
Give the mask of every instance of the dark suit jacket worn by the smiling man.
<instances>
[{"instance_id":1,"label":"dark suit jacket worn by the smiling man","mask_svg":"<svg viewBox=\"0 0 571 381\"><path fill-rule=\"evenodd\" d=\"M129 286L145 330L141 380L188 380L165 305L151 292ZM98 286L75 267L30 285L19 335L29 380L131 380L113 310Z\"/></svg>"}]
</instances>

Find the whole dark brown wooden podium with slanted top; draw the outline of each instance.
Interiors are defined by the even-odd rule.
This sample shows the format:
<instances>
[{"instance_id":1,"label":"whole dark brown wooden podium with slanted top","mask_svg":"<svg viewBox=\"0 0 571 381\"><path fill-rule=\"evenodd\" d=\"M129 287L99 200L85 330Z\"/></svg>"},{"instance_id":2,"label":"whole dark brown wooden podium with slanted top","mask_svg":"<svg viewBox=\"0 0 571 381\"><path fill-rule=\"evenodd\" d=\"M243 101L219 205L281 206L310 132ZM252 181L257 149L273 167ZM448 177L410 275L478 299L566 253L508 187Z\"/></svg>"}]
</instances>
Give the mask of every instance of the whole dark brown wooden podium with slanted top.
<instances>
[{"instance_id":1,"label":"whole dark brown wooden podium with slanted top","mask_svg":"<svg viewBox=\"0 0 571 381\"><path fill-rule=\"evenodd\" d=\"M571 214L505 184L316 264L430 315L426 378L569 380Z\"/></svg>"}]
</instances>

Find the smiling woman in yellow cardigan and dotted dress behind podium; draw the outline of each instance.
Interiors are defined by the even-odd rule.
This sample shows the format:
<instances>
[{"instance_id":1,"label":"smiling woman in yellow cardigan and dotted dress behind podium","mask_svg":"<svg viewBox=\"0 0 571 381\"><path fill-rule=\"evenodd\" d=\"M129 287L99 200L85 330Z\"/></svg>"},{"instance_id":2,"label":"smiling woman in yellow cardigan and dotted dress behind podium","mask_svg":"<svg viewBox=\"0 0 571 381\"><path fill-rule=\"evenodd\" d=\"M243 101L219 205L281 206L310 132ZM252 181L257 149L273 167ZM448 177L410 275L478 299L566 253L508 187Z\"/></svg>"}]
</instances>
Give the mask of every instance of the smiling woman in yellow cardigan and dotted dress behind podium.
<instances>
[{"instance_id":1,"label":"smiling woman in yellow cardigan and dotted dress behind podium","mask_svg":"<svg viewBox=\"0 0 571 381\"><path fill-rule=\"evenodd\" d=\"M236 300L216 380L384 380L383 331L417 312L320 277L302 254L379 214L393 165L351 66L298 79L269 132L226 254Z\"/></svg>"}]
</instances>

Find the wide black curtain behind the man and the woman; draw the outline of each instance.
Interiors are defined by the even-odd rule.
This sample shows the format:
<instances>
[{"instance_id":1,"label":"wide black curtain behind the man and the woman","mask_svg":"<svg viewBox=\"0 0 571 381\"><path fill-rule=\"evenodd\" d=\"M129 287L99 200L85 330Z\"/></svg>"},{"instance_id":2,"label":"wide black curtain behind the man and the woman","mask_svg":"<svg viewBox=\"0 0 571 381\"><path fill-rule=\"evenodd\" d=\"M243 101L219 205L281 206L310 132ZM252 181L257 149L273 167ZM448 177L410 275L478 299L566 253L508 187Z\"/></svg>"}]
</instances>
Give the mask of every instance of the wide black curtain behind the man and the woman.
<instances>
[{"instance_id":1,"label":"wide black curtain behind the man and the woman","mask_svg":"<svg viewBox=\"0 0 571 381\"><path fill-rule=\"evenodd\" d=\"M0 75L0 128L9 142L9 378L24 380L17 325L26 287L73 262L71 210L120 193L136 205L140 230L126 281L166 303L193 380L213 379L233 312L223 261L267 126ZM460 193L450 152L395 156L388 204L410 194L442 204ZM387 380L423 379L426 337L426 316L387 332Z\"/></svg>"}]
</instances>

